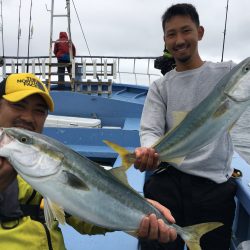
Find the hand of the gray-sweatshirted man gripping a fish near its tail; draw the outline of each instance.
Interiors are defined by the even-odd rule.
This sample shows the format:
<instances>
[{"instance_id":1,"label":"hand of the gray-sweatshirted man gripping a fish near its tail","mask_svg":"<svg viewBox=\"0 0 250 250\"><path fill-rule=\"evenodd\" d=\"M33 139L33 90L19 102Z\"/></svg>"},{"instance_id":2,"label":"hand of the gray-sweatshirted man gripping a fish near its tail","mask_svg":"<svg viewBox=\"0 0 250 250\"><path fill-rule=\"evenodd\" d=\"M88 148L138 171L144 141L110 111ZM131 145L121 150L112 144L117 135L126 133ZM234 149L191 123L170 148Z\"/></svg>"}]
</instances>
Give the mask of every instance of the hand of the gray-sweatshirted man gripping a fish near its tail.
<instances>
[{"instance_id":1,"label":"hand of the gray-sweatshirted man gripping a fish near its tail","mask_svg":"<svg viewBox=\"0 0 250 250\"><path fill-rule=\"evenodd\" d=\"M141 172L155 170L158 166L159 156L153 148L136 148L135 156L136 160L134 166Z\"/></svg>"}]
</instances>

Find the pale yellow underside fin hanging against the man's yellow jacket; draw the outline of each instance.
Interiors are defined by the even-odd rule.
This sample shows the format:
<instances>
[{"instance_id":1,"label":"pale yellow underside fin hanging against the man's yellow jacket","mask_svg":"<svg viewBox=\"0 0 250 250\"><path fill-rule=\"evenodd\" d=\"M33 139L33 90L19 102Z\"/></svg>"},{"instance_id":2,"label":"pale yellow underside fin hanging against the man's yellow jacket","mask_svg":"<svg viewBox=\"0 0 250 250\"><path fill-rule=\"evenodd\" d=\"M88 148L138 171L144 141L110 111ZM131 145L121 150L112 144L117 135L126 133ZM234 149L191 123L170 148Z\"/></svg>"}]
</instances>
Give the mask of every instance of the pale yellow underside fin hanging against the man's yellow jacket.
<instances>
[{"instance_id":1,"label":"pale yellow underside fin hanging against the man's yellow jacket","mask_svg":"<svg viewBox=\"0 0 250 250\"><path fill-rule=\"evenodd\" d=\"M52 202L49 198L44 198L44 216L49 229L52 228L54 219L61 224L65 224L65 213L63 208Z\"/></svg>"}]
</instances>

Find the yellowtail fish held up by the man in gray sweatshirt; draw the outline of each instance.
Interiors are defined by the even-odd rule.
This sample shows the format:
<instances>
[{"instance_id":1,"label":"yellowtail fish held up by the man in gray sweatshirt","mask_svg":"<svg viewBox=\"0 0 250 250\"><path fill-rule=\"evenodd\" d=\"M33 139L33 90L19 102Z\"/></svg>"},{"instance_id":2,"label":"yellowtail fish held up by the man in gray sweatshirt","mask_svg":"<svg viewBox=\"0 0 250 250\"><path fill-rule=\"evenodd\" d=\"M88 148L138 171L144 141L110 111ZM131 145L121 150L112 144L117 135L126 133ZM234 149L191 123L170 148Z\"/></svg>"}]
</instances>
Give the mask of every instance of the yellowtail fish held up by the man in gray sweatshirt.
<instances>
[{"instance_id":1,"label":"yellowtail fish held up by the man in gray sweatshirt","mask_svg":"<svg viewBox=\"0 0 250 250\"><path fill-rule=\"evenodd\" d=\"M161 161L180 165L187 155L230 130L249 104L250 57L226 74L188 114L173 114L176 125L152 147ZM104 142L120 154L124 166L134 163L134 153L115 143Z\"/></svg>"}]
</instances>

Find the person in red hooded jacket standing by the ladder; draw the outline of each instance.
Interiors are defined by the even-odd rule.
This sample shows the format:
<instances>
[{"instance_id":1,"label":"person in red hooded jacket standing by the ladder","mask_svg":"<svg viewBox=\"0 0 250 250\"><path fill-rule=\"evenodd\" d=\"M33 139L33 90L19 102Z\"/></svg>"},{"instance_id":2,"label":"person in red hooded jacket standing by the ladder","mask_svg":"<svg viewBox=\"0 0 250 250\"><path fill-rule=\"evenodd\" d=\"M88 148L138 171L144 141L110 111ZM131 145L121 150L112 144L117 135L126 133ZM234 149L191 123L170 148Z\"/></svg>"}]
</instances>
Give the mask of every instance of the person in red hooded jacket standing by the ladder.
<instances>
[{"instance_id":1,"label":"person in red hooded jacket standing by the ladder","mask_svg":"<svg viewBox=\"0 0 250 250\"><path fill-rule=\"evenodd\" d=\"M72 45L72 58L76 56L76 48L73 42ZM59 39L56 40L54 45L54 54L57 57L58 63L67 64L66 68L71 78L72 65L70 62L70 42L66 32L59 33ZM65 66L58 66L58 84L63 86L64 83Z\"/></svg>"}]
</instances>

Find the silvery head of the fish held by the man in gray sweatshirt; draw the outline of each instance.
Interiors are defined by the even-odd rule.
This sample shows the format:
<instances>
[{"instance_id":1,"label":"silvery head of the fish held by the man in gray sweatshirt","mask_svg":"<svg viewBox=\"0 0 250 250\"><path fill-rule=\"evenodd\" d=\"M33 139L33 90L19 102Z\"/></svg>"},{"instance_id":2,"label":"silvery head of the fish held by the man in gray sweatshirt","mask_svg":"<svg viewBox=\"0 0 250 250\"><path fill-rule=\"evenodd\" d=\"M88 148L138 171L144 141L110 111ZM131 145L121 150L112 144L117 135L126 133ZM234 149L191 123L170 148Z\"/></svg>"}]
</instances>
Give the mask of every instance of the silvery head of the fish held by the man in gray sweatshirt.
<instances>
[{"instance_id":1,"label":"silvery head of the fish held by the man in gray sweatshirt","mask_svg":"<svg viewBox=\"0 0 250 250\"><path fill-rule=\"evenodd\" d=\"M232 74L230 74L232 73ZM250 100L250 57L236 65L229 73L229 84L224 93L236 102Z\"/></svg>"}]
</instances>

